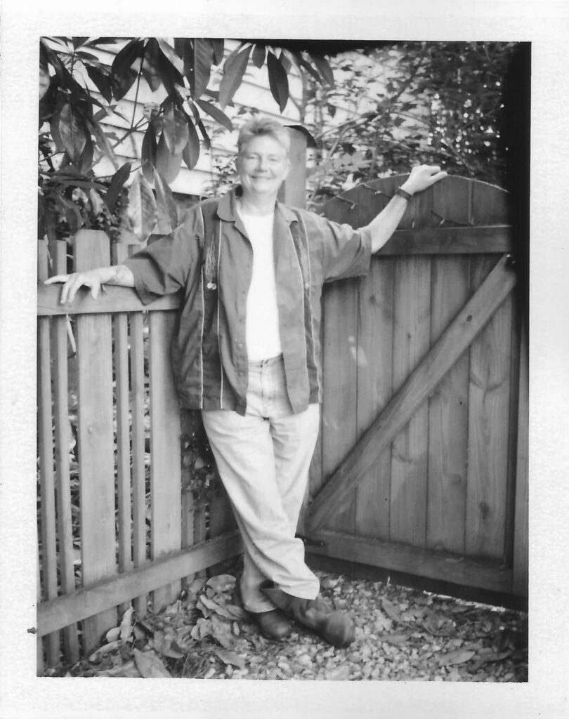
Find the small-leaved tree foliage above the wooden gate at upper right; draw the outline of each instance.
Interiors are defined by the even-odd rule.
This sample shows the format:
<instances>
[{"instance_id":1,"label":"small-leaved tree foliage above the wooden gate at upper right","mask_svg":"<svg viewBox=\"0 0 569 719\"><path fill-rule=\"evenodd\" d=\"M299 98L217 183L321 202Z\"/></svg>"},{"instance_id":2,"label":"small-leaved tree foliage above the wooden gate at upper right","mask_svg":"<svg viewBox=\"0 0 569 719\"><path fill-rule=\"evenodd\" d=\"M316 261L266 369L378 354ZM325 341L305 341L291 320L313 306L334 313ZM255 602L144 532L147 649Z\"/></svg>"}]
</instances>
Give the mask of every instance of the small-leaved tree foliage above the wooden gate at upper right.
<instances>
[{"instance_id":1,"label":"small-leaved tree foliage above the wooden gate at upper right","mask_svg":"<svg viewBox=\"0 0 569 719\"><path fill-rule=\"evenodd\" d=\"M416 162L504 186L504 81L515 50L512 42L393 42L334 58L335 86L309 78L304 93L304 122L319 145L313 206Z\"/></svg>"}]
</instances>

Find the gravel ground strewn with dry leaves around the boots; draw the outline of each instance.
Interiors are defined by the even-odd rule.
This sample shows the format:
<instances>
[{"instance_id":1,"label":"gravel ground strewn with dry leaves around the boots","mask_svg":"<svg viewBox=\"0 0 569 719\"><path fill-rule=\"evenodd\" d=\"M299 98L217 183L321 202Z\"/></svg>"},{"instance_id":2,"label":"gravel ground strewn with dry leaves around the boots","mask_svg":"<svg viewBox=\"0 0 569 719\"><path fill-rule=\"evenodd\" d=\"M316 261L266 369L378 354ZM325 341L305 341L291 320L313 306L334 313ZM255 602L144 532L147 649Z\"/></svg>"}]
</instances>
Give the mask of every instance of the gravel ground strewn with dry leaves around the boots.
<instances>
[{"instance_id":1,"label":"gravel ground strewn with dry leaves around the boots","mask_svg":"<svg viewBox=\"0 0 569 719\"><path fill-rule=\"evenodd\" d=\"M239 605L232 574L200 578L159 615L132 610L89 659L50 676L527 682L527 615L383 582L317 572L355 622L347 649L295 626L268 641Z\"/></svg>"}]
</instances>

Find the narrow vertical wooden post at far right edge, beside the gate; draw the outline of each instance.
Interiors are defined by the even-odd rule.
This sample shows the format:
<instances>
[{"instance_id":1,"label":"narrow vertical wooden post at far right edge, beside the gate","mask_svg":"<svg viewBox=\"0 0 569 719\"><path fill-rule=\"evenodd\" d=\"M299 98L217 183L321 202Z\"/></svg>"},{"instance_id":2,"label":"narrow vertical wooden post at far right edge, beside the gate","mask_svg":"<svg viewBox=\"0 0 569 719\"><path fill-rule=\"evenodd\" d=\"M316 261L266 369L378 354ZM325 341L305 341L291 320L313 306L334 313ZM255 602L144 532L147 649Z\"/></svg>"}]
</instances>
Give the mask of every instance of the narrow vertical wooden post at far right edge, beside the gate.
<instances>
[{"instance_id":1,"label":"narrow vertical wooden post at far right edge, beside the gate","mask_svg":"<svg viewBox=\"0 0 569 719\"><path fill-rule=\"evenodd\" d=\"M514 566L512 593L527 597L529 563L529 348L522 326L519 366L516 495L514 500Z\"/></svg>"}]
</instances>

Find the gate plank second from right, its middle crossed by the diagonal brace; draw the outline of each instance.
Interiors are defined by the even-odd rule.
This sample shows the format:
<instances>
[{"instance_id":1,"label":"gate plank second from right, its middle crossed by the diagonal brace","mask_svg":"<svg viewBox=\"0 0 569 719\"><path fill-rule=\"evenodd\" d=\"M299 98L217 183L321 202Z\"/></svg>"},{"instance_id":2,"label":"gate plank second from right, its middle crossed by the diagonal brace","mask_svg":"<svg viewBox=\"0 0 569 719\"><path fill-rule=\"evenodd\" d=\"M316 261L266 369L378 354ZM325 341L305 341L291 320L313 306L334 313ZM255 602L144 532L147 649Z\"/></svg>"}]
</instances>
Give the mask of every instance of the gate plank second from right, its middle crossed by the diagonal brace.
<instances>
[{"instance_id":1,"label":"gate plank second from right, its middle crossed by the diagonal brace","mask_svg":"<svg viewBox=\"0 0 569 719\"><path fill-rule=\"evenodd\" d=\"M472 182L453 178L432 188L435 224L468 224ZM470 297L468 257L433 257L431 344ZM469 353L458 359L429 399L427 549L464 552L468 465Z\"/></svg>"}]
</instances>

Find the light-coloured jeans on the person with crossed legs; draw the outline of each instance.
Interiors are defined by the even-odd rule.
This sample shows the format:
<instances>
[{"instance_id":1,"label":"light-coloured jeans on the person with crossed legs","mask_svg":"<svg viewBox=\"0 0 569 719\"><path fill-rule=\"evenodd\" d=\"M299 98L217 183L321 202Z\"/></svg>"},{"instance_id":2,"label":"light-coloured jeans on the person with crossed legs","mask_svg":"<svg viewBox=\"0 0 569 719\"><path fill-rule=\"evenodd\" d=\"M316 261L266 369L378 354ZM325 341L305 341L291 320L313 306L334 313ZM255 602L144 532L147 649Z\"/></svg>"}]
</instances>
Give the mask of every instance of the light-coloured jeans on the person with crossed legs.
<instances>
[{"instance_id":1,"label":"light-coloured jeans on the person with crossed legs","mask_svg":"<svg viewBox=\"0 0 569 719\"><path fill-rule=\"evenodd\" d=\"M319 581L294 535L318 437L319 406L293 414L283 358L276 357L250 363L245 416L207 410L202 417L245 546L245 609L274 608L259 590L265 580L287 594L316 598Z\"/></svg>"}]
</instances>

